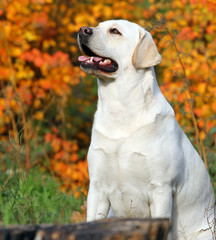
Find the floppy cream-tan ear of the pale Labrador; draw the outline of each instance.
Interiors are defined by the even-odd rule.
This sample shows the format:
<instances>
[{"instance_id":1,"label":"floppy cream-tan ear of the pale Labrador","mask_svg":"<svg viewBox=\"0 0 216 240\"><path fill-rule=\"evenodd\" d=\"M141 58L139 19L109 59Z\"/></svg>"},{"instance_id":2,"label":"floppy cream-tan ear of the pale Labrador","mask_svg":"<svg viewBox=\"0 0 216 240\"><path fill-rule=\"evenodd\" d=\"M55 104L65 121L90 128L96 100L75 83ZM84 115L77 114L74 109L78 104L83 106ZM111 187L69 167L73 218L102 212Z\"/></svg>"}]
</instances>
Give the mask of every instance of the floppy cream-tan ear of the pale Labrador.
<instances>
[{"instance_id":1,"label":"floppy cream-tan ear of the pale Labrador","mask_svg":"<svg viewBox=\"0 0 216 240\"><path fill-rule=\"evenodd\" d=\"M152 67L161 62L161 55L151 34L144 29L139 31L140 39L134 50L132 63L136 69Z\"/></svg>"}]
</instances>

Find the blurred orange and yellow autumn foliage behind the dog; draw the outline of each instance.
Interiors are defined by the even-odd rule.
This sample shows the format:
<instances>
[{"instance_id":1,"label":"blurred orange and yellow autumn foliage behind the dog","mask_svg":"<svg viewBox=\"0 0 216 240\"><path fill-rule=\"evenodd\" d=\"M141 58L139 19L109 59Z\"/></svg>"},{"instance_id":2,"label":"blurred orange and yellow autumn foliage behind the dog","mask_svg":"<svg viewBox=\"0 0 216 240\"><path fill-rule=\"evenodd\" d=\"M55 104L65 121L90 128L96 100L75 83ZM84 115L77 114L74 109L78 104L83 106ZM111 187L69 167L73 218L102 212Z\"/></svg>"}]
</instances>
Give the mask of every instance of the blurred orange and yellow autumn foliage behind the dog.
<instances>
[{"instance_id":1,"label":"blurred orange and yellow autumn foliage behind the dog","mask_svg":"<svg viewBox=\"0 0 216 240\"><path fill-rule=\"evenodd\" d=\"M81 26L123 18L151 31L163 56L156 68L161 89L214 178L215 16L215 0L1 1L3 170L11 162L39 165L59 178L63 190L87 193L97 86L79 69L76 36Z\"/></svg>"}]
</instances>

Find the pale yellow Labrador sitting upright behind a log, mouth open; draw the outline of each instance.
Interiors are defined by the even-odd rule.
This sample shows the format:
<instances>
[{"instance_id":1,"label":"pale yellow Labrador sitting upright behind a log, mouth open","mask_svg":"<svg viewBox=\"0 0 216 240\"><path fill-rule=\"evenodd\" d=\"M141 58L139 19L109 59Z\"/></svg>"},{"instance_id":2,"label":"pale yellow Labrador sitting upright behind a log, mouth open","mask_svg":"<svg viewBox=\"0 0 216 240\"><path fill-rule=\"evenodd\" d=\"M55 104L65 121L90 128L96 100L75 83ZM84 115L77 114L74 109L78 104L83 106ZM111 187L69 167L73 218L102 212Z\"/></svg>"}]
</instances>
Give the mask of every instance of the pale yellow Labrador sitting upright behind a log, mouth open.
<instances>
[{"instance_id":1,"label":"pale yellow Labrador sitting upright behind a log, mouth open","mask_svg":"<svg viewBox=\"0 0 216 240\"><path fill-rule=\"evenodd\" d=\"M213 239L214 193L200 156L175 120L153 66L151 34L125 20L78 34L81 68L97 76L98 106L88 151L87 221L168 217L169 239Z\"/></svg>"}]
</instances>

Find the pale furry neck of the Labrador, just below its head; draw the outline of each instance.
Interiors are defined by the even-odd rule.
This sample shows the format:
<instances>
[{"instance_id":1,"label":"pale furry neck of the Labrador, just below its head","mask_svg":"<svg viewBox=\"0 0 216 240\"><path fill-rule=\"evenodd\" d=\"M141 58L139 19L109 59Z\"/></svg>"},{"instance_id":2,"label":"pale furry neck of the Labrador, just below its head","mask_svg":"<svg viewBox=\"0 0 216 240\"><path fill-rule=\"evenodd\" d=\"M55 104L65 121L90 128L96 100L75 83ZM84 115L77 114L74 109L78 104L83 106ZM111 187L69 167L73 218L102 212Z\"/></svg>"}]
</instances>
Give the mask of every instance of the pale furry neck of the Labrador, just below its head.
<instances>
[{"instance_id":1,"label":"pale furry neck of the Labrador, just below its head","mask_svg":"<svg viewBox=\"0 0 216 240\"><path fill-rule=\"evenodd\" d=\"M155 107L157 114L170 114L170 108L164 108L164 104L158 101L166 100L157 84L153 67L140 71L128 71L128 74L125 72L114 80L98 78L99 111L113 112L121 108L130 113L136 109L149 111L150 107L151 109Z\"/></svg>"}]
</instances>

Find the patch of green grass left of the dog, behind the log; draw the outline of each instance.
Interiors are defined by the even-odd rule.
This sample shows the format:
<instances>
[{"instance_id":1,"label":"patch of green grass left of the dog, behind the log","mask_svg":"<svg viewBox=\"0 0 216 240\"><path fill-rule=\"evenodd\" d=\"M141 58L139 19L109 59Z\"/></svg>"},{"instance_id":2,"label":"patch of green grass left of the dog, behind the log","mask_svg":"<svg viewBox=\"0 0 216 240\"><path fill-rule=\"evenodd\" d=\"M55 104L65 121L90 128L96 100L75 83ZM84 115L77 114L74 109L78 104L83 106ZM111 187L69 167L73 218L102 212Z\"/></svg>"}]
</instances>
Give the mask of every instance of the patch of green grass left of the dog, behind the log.
<instances>
[{"instance_id":1,"label":"patch of green grass left of the dog, behind the log","mask_svg":"<svg viewBox=\"0 0 216 240\"><path fill-rule=\"evenodd\" d=\"M0 223L68 223L83 199L59 190L59 183L38 168L27 174L0 172Z\"/></svg>"}]
</instances>

